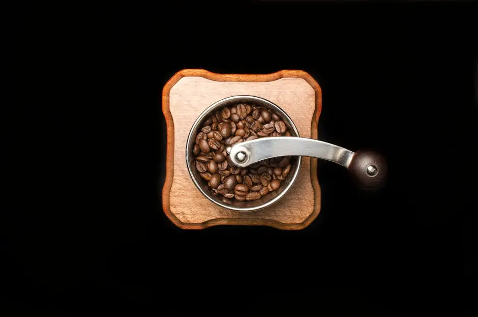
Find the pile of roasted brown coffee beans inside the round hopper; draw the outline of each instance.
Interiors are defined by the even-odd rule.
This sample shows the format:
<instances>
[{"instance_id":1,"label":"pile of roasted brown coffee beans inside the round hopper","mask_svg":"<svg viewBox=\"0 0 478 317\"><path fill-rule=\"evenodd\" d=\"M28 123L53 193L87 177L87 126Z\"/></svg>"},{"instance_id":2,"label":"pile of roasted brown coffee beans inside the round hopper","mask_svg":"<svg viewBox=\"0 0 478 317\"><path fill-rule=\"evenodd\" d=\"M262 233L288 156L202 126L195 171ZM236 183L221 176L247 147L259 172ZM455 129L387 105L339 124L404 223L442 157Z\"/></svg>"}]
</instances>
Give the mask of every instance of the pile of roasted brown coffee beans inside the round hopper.
<instances>
[{"instance_id":1,"label":"pile of roasted brown coffee beans inside the round hopper","mask_svg":"<svg viewBox=\"0 0 478 317\"><path fill-rule=\"evenodd\" d=\"M208 117L193 148L196 169L215 196L256 200L279 189L290 172L290 157L272 158L240 168L233 166L226 147L268 136L290 136L276 113L247 103L224 107Z\"/></svg>"}]
</instances>

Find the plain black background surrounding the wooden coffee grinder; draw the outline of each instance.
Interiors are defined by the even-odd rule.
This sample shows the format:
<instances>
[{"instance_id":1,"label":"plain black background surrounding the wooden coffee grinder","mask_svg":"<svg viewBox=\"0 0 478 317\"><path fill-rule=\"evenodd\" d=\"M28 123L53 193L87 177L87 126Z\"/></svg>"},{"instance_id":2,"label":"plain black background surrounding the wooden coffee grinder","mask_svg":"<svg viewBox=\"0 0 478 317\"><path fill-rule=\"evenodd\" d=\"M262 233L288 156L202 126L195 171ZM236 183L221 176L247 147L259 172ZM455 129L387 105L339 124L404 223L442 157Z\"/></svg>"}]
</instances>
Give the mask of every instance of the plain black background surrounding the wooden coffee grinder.
<instances>
[{"instance_id":1,"label":"plain black background surrounding the wooden coffee grinder","mask_svg":"<svg viewBox=\"0 0 478 317\"><path fill-rule=\"evenodd\" d=\"M20 8L2 309L476 315L476 13L470 3ZM321 212L303 230L177 228L161 207L161 90L185 68L307 71L323 92L319 138L383 153L386 187L366 194L319 162Z\"/></svg>"}]
</instances>

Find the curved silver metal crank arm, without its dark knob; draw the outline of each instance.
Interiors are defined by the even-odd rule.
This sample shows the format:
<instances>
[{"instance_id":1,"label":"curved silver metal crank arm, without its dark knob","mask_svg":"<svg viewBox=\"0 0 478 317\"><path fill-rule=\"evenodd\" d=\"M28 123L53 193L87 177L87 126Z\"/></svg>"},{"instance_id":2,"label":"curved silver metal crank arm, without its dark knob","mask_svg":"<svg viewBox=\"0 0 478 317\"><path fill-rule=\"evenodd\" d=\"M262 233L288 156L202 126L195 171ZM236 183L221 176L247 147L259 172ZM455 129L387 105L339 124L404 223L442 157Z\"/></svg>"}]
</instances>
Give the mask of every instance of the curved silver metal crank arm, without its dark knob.
<instances>
[{"instance_id":1,"label":"curved silver metal crank arm, without its dark knob","mask_svg":"<svg viewBox=\"0 0 478 317\"><path fill-rule=\"evenodd\" d=\"M245 158L237 160L236 155L244 153ZM310 156L332 161L344 167L350 165L354 152L331 143L304 137L264 137L237 143L230 149L232 163L247 167L259 161L280 156Z\"/></svg>"}]
</instances>

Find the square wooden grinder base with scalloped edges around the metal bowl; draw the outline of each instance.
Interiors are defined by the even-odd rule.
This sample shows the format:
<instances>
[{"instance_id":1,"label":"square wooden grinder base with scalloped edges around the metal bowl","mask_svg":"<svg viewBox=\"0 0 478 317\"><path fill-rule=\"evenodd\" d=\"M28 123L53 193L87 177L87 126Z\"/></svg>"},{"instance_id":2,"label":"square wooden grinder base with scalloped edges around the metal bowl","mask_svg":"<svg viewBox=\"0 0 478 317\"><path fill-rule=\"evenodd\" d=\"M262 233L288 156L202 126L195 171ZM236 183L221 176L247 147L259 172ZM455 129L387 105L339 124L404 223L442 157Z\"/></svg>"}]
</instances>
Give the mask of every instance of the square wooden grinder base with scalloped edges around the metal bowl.
<instances>
[{"instance_id":1,"label":"square wooden grinder base with scalloped edges around the metal bowl","mask_svg":"<svg viewBox=\"0 0 478 317\"><path fill-rule=\"evenodd\" d=\"M235 95L253 95L272 101L290 116L301 137L317 139L322 93L319 84L304 71L282 70L264 75L216 74L202 69L177 72L163 89L167 125L164 213L184 229L219 224L267 225L287 230L305 228L320 211L317 159L304 157L298 178L287 194L273 206L255 212L237 212L217 206L192 182L185 159L189 131L204 109Z\"/></svg>"}]
</instances>

